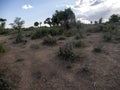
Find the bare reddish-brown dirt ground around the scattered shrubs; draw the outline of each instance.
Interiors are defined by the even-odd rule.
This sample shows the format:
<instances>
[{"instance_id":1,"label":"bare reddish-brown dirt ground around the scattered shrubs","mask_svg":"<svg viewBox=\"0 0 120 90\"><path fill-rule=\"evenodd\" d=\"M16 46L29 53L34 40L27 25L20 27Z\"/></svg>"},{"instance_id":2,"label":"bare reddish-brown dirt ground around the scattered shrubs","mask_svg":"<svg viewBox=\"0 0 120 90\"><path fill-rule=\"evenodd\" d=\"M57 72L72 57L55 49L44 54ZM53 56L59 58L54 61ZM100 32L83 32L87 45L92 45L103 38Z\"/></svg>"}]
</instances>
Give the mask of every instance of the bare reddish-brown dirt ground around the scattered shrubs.
<instances>
[{"instance_id":1,"label":"bare reddish-brown dirt ground around the scattered shrubs","mask_svg":"<svg viewBox=\"0 0 120 90\"><path fill-rule=\"evenodd\" d=\"M120 90L120 43L103 42L101 33L90 33L83 39L87 46L76 49L80 60L60 60L59 47L72 39L45 46L42 39L13 44L14 36L0 36L7 47L0 54L0 70L14 81L13 90ZM96 46L102 46L101 53L93 52Z\"/></svg>"}]
</instances>

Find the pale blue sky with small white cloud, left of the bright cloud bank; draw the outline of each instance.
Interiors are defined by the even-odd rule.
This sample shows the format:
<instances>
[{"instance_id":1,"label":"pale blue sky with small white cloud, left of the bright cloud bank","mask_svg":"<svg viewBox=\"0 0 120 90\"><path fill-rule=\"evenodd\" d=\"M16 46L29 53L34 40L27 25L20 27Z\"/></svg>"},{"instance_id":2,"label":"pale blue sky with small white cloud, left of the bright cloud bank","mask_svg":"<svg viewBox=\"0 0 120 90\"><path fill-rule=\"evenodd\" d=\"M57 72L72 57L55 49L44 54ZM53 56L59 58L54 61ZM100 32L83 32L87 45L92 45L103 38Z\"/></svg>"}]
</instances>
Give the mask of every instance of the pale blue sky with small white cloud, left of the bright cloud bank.
<instances>
[{"instance_id":1,"label":"pale blue sky with small white cloud, left of the bright cloud bank","mask_svg":"<svg viewBox=\"0 0 120 90\"><path fill-rule=\"evenodd\" d=\"M35 21L44 21L51 17L55 10L63 10L75 0L0 0L0 17L6 18L6 26L10 27L15 17L25 20L25 27L32 26Z\"/></svg>"}]
</instances>

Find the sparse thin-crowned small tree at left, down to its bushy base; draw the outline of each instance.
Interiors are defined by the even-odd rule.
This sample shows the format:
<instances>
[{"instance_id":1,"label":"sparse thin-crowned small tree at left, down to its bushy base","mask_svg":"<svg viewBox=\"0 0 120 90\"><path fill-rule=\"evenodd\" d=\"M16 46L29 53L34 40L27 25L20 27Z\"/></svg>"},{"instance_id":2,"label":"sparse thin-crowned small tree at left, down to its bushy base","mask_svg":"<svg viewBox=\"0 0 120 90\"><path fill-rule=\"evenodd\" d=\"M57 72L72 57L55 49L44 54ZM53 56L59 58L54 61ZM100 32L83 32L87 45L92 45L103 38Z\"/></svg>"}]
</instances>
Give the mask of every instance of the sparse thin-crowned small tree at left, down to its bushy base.
<instances>
[{"instance_id":1,"label":"sparse thin-crowned small tree at left, down to its bushy base","mask_svg":"<svg viewBox=\"0 0 120 90\"><path fill-rule=\"evenodd\" d=\"M16 37L16 43L20 43L20 42L23 41L22 40L21 29L22 29L24 23L25 23L24 20L21 20L21 18L16 17L14 22L10 24L14 30L18 30L18 34L17 34L17 37Z\"/></svg>"}]
</instances>

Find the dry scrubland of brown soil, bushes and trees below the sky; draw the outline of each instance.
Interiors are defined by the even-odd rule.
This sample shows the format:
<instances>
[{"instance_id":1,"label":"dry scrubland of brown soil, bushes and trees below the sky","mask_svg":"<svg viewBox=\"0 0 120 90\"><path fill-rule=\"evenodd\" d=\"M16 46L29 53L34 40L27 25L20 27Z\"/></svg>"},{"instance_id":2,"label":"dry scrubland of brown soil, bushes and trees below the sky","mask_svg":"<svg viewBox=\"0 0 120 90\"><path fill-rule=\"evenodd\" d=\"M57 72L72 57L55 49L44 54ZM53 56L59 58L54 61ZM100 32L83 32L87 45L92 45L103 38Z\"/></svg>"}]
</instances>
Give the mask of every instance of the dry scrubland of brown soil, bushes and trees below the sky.
<instances>
[{"instance_id":1,"label":"dry scrubland of brown soil, bushes and trees below the sky","mask_svg":"<svg viewBox=\"0 0 120 90\"><path fill-rule=\"evenodd\" d=\"M120 88L119 15L85 24L68 8L28 28L21 18L12 29L5 23L0 18L0 90Z\"/></svg>"}]
</instances>

